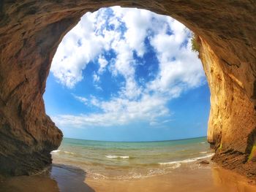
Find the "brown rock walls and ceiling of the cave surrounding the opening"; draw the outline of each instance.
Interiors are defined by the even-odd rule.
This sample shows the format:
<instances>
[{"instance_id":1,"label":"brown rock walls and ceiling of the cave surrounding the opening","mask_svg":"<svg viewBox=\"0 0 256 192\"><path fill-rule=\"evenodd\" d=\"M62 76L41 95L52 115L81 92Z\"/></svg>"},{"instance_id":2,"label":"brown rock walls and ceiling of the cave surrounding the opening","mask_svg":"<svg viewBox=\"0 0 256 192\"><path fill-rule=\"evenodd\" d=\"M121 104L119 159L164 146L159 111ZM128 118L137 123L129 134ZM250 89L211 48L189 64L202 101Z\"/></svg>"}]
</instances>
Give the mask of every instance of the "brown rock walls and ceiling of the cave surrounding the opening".
<instances>
[{"instance_id":1,"label":"brown rock walls and ceiling of the cave surrounding the opening","mask_svg":"<svg viewBox=\"0 0 256 192\"><path fill-rule=\"evenodd\" d=\"M86 12L121 5L170 15L199 36L211 89L208 142L214 160L256 175L256 4L236 1L0 2L0 172L31 174L51 163L62 134L45 114L42 94L56 48ZM252 156L252 155L251 155Z\"/></svg>"}]
</instances>

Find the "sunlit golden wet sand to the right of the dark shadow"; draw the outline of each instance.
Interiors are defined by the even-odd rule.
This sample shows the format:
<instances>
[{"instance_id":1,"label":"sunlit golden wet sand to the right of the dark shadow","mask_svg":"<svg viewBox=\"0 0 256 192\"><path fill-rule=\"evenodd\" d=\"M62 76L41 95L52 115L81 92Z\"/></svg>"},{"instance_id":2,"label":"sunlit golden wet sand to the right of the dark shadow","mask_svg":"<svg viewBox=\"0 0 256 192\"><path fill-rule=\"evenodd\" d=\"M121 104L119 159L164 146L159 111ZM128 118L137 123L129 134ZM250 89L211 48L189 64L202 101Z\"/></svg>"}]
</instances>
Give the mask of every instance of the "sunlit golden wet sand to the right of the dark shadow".
<instances>
[{"instance_id":1,"label":"sunlit golden wet sand to the right of the dark shadow","mask_svg":"<svg viewBox=\"0 0 256 192\"><path fill-rule=\"evenodd\" d=\"M95 191L100 192L255 192L256 186L240 175L214 166L200 169L176 169L170 174L135 180L93 180L86 179Z\"/></svg>"}]
</instances>

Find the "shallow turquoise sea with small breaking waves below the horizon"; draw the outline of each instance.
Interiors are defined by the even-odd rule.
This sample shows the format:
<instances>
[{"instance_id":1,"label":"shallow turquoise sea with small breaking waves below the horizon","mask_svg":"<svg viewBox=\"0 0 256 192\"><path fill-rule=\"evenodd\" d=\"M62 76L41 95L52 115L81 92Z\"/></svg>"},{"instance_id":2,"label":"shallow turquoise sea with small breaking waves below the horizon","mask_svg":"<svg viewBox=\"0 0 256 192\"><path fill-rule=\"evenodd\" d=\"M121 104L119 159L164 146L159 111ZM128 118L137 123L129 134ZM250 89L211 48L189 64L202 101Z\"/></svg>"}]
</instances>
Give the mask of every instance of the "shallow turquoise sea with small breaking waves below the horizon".
<instances>
[{"instance_id":1,"label":"shallow turquoise sea with small breaking waves below the horizon","mask_svg":"<svg viewBox=\"0 0 256 192\"><path fill-rule=\"evenodd\" d=\"M129 179L166 174L210 158L206 137L163 142L102 142L64 138L53 163L79 167L89 177ZM192 169L194 169L192 168ZM199 167L200 168L200 167Z\"/></svg>"}]
</instances>

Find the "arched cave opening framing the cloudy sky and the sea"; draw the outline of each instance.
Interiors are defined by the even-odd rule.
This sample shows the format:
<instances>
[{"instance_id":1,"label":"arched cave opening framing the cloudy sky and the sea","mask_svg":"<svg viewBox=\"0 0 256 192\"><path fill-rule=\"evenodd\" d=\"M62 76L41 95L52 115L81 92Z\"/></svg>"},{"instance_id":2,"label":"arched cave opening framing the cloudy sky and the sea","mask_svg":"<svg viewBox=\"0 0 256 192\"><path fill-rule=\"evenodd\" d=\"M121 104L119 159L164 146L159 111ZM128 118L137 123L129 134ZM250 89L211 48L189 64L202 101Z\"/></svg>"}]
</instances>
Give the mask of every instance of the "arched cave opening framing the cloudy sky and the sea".
<instances>
[{"instance_id":1,"label":"arched cave opening framing the cloudy sky and the sea","mask_svg":"<svg viewBox=\"0 0 256 192\"><path fill-rule=\"evenodd\" d=\"M56 51L44 95L64 133L53 163L130 179L213 155L198 46L183 24L145 9L83 15Z\"/></svg>"}]
</instances>

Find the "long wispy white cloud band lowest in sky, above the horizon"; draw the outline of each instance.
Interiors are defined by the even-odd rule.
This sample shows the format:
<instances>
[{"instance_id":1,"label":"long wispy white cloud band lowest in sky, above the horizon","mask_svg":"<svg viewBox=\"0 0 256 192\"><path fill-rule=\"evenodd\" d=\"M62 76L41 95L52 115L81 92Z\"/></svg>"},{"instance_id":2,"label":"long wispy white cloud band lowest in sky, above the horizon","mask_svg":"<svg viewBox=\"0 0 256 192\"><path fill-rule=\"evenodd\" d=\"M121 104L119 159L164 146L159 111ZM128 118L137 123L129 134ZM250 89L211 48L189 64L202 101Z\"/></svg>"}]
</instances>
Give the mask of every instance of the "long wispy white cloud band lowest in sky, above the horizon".
<instances>
[{"instance_id":1,"label":"long wispy white cloud band lowest in sky, above the horizon","mask_svg":"<svg viewBox=\"0 0 256 192\"><path fill-rule=\"evenodd\" d=\"M90 115L58 115L53 117L58 126L121 126L136 121L154 121L170 111L165 107L165 99L143 96L140 101L114 98L111 101L91 99L91 104L103 112Z\"/></svg>"}]
</instances>

